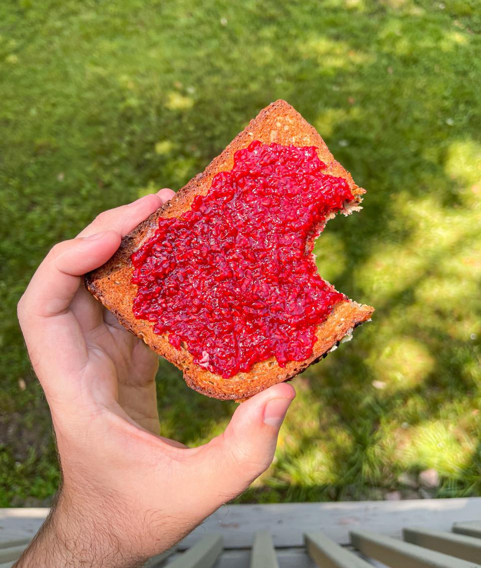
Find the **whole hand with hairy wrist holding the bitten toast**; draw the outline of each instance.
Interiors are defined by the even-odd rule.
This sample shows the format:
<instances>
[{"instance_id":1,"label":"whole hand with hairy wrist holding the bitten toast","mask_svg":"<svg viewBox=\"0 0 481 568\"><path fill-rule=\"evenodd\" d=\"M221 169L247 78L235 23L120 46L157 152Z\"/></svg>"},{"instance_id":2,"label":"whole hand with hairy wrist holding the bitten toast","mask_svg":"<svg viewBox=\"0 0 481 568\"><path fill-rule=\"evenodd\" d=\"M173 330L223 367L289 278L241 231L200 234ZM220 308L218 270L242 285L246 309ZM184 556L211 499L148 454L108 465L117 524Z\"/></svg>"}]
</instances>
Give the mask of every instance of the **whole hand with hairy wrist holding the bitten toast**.
<instances>
[{"instance_id":1,"label":"whole hand with hairy wrist holding the bitten toast","mask_svg":"<svg viewBox=\"0 0 481 568\"><path fill-rule=\"evenodd\" d=\"M16 566L137 566L181 540L271 463L295 396L276 385L242 403L199 448L160 436L156 354L85 289L122 236L168 201L163 189L106 211L57 244L18 306L52 413L62 486Z\"/></svg>"}]
</instances>

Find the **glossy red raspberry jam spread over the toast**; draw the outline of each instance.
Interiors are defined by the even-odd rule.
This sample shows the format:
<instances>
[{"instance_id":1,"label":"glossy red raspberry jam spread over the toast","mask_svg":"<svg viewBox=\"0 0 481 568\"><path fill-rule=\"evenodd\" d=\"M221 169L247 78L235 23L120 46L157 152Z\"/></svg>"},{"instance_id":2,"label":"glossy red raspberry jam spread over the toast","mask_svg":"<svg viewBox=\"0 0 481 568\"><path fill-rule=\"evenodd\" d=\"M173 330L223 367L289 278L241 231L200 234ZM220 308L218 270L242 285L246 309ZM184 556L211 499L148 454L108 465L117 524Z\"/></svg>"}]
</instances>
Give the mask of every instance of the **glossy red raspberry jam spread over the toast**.
<instances>
[{"instance_id":1,"label":"glossy red raspberry jam spread over the toast","mask_svg":"<svg viewBox=\"0 0 481 568\"><path fill-rule=\"evenodd\" d=\"M271 356L312 355L316 326L345 299L317 274L313 231L354 199L315 147L253 141L180 218L132 254L136 318L232 377ZM317 229L319 230L319 229Z\"/></svg>"}]
</instances>

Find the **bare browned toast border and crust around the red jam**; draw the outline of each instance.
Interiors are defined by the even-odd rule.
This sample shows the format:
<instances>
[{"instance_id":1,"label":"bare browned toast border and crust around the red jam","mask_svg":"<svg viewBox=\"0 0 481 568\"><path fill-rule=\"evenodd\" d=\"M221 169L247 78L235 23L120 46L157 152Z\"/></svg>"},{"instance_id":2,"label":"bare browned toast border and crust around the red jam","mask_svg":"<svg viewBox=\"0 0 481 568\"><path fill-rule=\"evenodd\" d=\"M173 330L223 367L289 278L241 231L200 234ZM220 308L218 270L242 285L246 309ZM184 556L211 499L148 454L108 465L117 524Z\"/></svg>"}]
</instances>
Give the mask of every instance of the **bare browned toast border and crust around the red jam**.
<instances>
[{"instance_id":1,"label":"bare browned toast border and crust around the red jam","mask_svg":"<svg viewBox=\"0 0 481 568\"><path fill-rule=\"evenodd\" d=\"M311 357L304 361L288 361L285 367L279 366L275 357L271 357L255 363L249 372L237 373L229 378L222 378L195 364L193 356L185 347L181 345L179 349L175 348L169 343L167 334L157 335L153 332L153 323L136 319L133 315L132 304L137 287L131 283L132 253L154 235L160 217L180 217L183 212L189 210L196 195L206 195L214 176L219 172L231 170L235 152L248 147L253 140L260 140L265 144L275 142L297 147L315 146L320 160L327 165L325 173L344 178L354 195L355 201L346 203L342 212L348 214L358 208L365 190L358 187L350 173L334 160L315 128L288 103L279 100L271 103L251 120L203 173L191 179L171 201L124 237L118 252L106 264L85 277L90 293L129 331L141 337L151 349L181 369L187 385L207 396L225 400L249 398L276 383L289 381L335 349L343 337L350 336L353 328L368 320L374 311L370 306L363 306L351 300L342 301L333 307L328 319L317 327L317 340L313 345ZM313 231L312 239L319 234L321 228L315 228L317 230Z\"/></svg>"}]
</instances>

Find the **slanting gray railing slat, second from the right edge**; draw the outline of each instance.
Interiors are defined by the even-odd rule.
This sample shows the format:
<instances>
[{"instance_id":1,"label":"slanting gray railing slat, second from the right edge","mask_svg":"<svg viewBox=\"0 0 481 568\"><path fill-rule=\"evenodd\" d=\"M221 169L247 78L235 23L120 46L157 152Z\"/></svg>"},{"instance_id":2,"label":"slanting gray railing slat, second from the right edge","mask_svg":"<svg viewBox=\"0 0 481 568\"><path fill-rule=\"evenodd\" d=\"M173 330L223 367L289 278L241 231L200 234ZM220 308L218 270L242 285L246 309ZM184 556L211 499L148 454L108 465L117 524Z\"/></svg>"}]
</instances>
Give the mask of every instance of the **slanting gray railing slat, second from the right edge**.
<instances>
[{"instance_id":1,"label":"slanting gray railing slat, second from the right edge","mask_svg":"<svg viewBox=\"0 0 481 568\"><path fill-rule=\"evenodd\" d=\"M450 554L471 562L481 562L481 538L424 528L405 528L403 538L406 542Z\"/></svg>"}]
</instances>

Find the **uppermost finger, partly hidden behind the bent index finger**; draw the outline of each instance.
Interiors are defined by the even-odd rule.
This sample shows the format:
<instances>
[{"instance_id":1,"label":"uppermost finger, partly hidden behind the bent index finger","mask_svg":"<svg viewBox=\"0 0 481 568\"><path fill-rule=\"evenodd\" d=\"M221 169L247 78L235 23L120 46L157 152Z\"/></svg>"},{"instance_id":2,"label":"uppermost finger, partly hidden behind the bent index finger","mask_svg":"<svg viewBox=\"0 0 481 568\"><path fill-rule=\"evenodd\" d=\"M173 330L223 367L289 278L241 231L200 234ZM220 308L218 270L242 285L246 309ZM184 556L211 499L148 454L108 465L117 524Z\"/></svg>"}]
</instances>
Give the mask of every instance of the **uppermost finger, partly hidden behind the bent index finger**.
<instances>
[{"instance_id":1,"label":"uppermost finger, partly hidden behind the bent index finger","mask_svg":"<svg viewBox=\"0 0 481 568\"><path fill-rule=\"evenodd\" d=\"M174 195L172 189L164 187L158 193L145 195L133 203L104 211L78 236L86 237L101 231L116 231L124 237Z\"/></svg>"}]
</instances>

